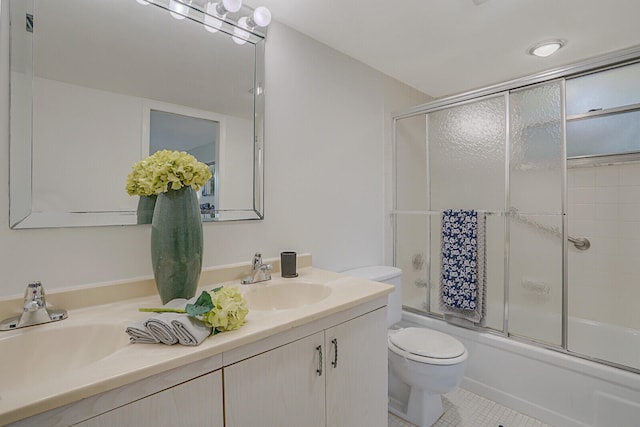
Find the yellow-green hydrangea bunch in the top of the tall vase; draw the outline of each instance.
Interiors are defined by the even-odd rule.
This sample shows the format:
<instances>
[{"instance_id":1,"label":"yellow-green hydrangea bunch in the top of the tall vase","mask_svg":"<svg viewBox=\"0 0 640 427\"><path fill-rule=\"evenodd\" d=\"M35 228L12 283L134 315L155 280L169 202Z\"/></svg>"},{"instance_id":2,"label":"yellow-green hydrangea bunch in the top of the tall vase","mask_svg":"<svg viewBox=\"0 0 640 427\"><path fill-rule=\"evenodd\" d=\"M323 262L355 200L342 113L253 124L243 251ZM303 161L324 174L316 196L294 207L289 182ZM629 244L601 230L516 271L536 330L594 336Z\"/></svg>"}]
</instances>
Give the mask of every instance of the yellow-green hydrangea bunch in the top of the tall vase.
<instances>
[{"instance_id":1,"label":"yellow-green hydrangea bunch in the top of the tall vase","mask_svg":"<svg viewBox=\"0 0 640 427\"><path fill-rule=\"evenodd\" d=\"M190 186L198 191L209 179L209 167L184 151L160 150L133 165L127 193L153 196Z\"/></svg>"}]
</instances>

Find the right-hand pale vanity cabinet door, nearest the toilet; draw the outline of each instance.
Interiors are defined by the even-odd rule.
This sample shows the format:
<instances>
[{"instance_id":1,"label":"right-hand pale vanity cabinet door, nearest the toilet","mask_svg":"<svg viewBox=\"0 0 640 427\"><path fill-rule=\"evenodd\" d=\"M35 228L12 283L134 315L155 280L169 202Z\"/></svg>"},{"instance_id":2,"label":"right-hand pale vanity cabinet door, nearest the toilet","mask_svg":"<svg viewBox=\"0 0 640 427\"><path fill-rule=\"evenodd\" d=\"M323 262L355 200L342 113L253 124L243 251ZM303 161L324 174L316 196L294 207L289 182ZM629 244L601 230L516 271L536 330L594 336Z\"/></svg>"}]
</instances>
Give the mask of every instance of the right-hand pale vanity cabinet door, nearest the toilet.
<instances>
[{"instance_id":1,"label":"right-hand pale vanity cabinet door, nearest the toilet","mask_svg":"<svg viewBox=\"0 0 640 427\"><path fill-rule=\"evenodd\" d=\"M386 427L386 308L328 329L325 337L327 426Z\"/></svg>"}]
</instances>

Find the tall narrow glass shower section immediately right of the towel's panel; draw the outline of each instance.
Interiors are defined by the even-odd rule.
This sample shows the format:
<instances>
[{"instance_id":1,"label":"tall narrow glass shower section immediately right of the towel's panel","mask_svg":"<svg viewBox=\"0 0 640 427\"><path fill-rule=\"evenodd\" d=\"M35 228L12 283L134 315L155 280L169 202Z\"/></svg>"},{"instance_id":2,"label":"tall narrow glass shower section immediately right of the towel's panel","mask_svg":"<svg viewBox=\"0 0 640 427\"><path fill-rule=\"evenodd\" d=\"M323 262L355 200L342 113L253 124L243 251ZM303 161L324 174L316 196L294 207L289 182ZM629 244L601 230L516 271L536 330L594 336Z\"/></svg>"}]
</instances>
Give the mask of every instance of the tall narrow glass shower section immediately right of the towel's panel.
<instances>
[{"instance_id":1,"label":"tall narrow glass shower section immediately right of the towel's panel","mask_svg":"<svg viewBox=\"0 0 640 427\"><path fill-rule=\"evenodd\" d=\"M565 151L563 81L509 95L508 332L560 346Z\"/></svg>"}]
</instances>

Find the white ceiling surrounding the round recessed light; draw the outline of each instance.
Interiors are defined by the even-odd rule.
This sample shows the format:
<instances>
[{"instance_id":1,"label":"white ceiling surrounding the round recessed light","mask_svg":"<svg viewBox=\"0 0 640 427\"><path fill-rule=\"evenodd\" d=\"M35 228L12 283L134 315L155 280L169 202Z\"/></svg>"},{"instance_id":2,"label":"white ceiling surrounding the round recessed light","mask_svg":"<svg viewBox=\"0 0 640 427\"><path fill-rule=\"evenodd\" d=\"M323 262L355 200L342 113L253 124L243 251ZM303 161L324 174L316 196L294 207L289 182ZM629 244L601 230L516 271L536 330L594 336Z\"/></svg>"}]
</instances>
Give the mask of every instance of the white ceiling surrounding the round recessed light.
<instances>
[{"instance_id":1,"label":"white ceiling surrounding the round recessed light","mask_svg":"<svg viewBox=\"0 0 640 427\"><path fill-rule=\"evenodd\" d=\"M640 45L637 0L247 0L436 98ZM555 55L527 54L550 38Z\"/></svg>"}]
</instances>

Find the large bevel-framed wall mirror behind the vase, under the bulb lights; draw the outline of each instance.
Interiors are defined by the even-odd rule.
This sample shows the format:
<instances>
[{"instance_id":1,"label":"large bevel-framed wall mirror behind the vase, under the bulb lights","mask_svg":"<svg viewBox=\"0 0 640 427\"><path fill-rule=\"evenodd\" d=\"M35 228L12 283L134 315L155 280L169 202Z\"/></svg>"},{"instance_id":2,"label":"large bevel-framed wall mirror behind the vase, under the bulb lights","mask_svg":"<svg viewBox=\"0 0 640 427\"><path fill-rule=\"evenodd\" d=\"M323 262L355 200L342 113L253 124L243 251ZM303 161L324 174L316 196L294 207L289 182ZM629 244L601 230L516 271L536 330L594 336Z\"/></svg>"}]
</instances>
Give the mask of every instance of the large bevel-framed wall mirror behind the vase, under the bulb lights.
<instances>
[{"instance_id":1,"label":"large bevel-framed wall mirror behind the vase, under the bulb lights","mask_svg":"<svg viewBox=\"0 0 640 427\"><path fill-rule=\"evenodd\" d=\"M173 138L214 171L203 221L262 219L262 34L212 32L205 0L186 17L169 0L8 3L11 228L136 224L125 182L157 145L154 116L204 124L159 127L163 147Z\"/></svg>"}]
</instances>

